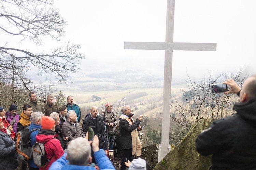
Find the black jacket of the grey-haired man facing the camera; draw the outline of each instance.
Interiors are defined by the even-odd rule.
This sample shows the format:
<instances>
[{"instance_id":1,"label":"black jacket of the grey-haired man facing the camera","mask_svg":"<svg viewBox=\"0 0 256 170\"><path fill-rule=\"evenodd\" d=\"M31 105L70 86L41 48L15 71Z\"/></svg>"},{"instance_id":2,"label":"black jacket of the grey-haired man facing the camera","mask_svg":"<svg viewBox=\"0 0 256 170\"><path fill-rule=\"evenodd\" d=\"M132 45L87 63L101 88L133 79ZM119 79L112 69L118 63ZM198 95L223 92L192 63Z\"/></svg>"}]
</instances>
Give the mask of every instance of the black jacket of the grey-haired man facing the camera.
<instances>
[{"instance_id":1,"label":"black jacket of the grey-haired man facing the camera","mask_svg":"<svg viewBox=\"0 0 256 170\"><path fill-rule=\"evenodd\" d=\"M86 132L88 131L89 126L95 126L96 129L94 129L94 133L95 133L95 135L96 134L101 134L101 138L99 138L99 143L101 144L105 140L105 135L106 135L105 126L104 126L104 123L103 123L103 120L102 120L101 116L98 116L98 115L96 116L96 122L97 123L94 124L93 120L91 118L91 115L89 115L83 120L82 129L84 131L84 134L86 134Z\"/></svg>"}]
</instances>

